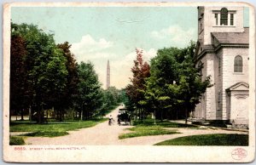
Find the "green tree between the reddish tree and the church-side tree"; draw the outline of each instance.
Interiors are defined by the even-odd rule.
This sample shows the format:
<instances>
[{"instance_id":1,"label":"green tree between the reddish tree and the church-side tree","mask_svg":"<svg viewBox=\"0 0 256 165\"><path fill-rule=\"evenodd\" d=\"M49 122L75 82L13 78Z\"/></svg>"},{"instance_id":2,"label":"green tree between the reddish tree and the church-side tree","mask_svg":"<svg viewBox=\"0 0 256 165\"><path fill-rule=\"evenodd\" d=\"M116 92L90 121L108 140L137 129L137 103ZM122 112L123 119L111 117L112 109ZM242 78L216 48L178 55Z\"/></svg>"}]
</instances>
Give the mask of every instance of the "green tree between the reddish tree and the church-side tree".
<instances>
[{"instance_id":1,"label":"green tree between the reddish tree and the church-side tree","mask_svg":"<svg viewBox=\"0 0 256 165\"><path fill-rule=\"evenodd\" d=\"M174 58L177 52L177 48L163 48L158 50L157 56L150 61L151 75L146 82L145 98L147 104L156 112L156 117L161 120L172 108L173 95L168 86L177 78L177 62Z\"/></svg>"}]
</instances>

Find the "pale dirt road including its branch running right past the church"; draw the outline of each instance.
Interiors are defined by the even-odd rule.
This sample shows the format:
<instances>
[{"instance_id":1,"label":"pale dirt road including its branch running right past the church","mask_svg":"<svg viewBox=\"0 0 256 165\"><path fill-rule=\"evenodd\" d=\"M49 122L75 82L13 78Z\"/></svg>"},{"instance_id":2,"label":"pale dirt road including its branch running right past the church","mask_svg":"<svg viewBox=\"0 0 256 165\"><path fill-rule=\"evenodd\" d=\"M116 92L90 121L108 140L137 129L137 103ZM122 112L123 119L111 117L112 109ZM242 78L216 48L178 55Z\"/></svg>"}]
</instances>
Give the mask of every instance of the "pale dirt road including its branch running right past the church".
<instances>
[{"instance_id":1,"label":"pale dirt road including its branch running right past the church","mask_svg":"<svg viewBox=\"0 0 256 165\"><path fill-rule=\"evenodd\" d=\"M117 121L117 114L120 105L110 114ZM107 117L109 117L109 115ZM28 145L154 145L166 139L174 139L182 136L189 136L195 134L247 134L247 132L228 131L223 129L191 129L191 128L173 128L182 134L166 134L157 136L145 136L130 139L119 139L119 134L129 132L125 128L131 126L119 126L115 123L113 126L108 126L107 122L102 122L92 128L82 128L79 131L69 131L68 135L43 138L43 137L29 137L26 138Z\"/></svg>"}]
</instances>

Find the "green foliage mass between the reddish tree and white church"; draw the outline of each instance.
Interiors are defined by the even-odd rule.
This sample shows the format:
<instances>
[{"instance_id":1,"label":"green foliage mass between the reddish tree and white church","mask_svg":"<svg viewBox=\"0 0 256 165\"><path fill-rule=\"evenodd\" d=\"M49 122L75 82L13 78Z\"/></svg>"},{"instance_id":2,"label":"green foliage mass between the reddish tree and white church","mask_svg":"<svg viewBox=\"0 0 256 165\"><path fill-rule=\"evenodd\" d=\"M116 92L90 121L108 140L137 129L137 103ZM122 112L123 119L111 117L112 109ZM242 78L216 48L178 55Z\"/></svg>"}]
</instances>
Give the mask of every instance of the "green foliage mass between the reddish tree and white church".
<instances>
[{"instance_id":1,"label":"green foliage mass between the reddish tree and white church","mask_svg":"<svg viewBox=\"0 0 256 165\"><path fill-rule=\"evenodd\" d=\"M201 95L211 87L210 77L201 81L193 60L195 43L187 48L159 49L150 61L150 77L146 80L144 105L156 117L186 118L195 109Z\"/></svg>"}]
</instances>

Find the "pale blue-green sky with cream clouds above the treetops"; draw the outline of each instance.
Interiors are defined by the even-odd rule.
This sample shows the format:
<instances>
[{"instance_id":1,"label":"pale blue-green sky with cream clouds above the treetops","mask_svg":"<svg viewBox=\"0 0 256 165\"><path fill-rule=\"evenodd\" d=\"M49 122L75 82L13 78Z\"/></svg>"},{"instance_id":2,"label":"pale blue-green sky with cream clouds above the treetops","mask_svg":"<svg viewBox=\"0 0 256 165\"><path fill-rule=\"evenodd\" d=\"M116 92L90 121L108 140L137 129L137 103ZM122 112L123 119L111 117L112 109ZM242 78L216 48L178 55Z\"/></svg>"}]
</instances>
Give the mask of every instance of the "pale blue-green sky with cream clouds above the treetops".
<instances>
[{"instance_id":1,"label":"pale blue-green sky with cream clouds above the treetops","mask_svg":"<svg viewBox=\"0 0 256 165\"><path fill-rule=\"evenodd\" d=\"M102 88L108 60L110 85L125 88L136 48L149 62L160 48L183 48L197 40L196 7L13 7L11 19L54 32L55 43L72 44L79 63L95 65Z\"/></svg>"}]
</instances>

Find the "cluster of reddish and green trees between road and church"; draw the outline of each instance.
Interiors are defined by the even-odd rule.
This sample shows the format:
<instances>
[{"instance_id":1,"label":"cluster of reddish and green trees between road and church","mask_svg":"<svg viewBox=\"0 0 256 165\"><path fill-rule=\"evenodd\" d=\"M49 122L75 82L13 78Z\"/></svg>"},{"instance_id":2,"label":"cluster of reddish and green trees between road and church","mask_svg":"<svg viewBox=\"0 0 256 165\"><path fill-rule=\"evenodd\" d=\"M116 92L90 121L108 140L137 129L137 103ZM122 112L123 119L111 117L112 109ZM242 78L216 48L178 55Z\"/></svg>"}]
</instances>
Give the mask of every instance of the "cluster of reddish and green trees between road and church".
<instances>
[{"instance_id":1,"label":"cluster of reddish and green trees between road and church","mask_svg":"<svg viewBox=\"0 0 256 165\"><path fill-rule=\"evenodd\" d=\"M137 49L131 84L125 88L125 104L131 111L141 119L152 112L160 120L187 119L211 87L210 77L201 81L201 68L195 67L193 60L194 49L193 42L187 48L159 49L150 66L143 62L143 51Z\"/></svg>"}]
</instances>

